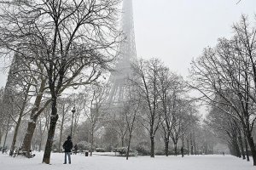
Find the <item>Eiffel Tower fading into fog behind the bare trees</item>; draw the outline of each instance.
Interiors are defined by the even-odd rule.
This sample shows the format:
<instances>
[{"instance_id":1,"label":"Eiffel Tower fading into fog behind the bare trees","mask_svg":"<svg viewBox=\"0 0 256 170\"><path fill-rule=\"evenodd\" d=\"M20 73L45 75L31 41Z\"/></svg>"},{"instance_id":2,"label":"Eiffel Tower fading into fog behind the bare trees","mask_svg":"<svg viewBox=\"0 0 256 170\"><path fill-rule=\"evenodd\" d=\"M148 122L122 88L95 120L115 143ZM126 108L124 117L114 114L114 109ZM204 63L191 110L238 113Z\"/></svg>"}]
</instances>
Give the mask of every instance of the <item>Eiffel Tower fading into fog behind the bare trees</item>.
<instances>
[{"instance_id":1,"label":"Eiffel Tower fading into fog behind the bare trees","mask_svg":"<svg viewBox=\"0 0 256 170\"><path fill-rule=\"evenodd\" d=\"M115 71L111 73L109 81L111 89L108 94L108 104L118 105L125 99L125 82L131 76L131 63L137 59L132 0L123 0L121 17L121 31L125 33L125 41L119 46L118 61Z\"/></svg>"}]
</instances>

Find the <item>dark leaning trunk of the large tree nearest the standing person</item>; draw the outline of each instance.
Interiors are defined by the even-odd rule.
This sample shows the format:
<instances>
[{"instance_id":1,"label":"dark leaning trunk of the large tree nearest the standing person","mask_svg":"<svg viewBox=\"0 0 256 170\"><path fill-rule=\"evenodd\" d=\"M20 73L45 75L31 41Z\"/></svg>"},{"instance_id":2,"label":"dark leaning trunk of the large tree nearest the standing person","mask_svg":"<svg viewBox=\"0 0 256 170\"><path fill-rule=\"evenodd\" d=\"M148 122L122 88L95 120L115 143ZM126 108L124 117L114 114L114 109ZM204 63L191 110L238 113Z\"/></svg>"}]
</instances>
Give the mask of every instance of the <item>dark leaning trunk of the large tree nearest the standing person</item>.
<instances>
[{"instance_id":1,"label":"dark leaning trunk of the large tree nearest the standing person","mask_svg":"<svg viewBox=\"0 0 256 170\"><path fill-rule=\"evenodd\" d=\"M49 122L49 132L48 137L45 145L44 150L44 157L43 157L43 163L49 164L50 161L50 153L52 150L52 144L54 141L55 136L55 127L56 123L58 121L58 114L57 114L57 98L55 96L52 97L52 104L51 104L51 116L50 116L50 122Z\"/></svg>"}]
</instances>

